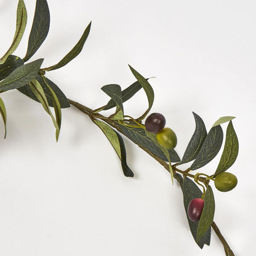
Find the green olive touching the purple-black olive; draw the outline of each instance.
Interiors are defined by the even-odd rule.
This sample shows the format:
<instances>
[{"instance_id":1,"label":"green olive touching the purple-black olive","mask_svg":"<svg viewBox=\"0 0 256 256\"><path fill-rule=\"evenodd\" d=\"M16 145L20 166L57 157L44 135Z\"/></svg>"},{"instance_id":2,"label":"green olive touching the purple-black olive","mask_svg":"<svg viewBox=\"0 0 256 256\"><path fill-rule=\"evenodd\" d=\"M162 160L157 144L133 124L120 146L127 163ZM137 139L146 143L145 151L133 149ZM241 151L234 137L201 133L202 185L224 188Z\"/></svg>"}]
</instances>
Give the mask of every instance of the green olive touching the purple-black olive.
<instances>
[{"instance_id":1,"label":"green olive touching the purple-black olive","mask_svg":"<svg viewBox=\"0 0 256 256\"><path fill-rule=\"evenodd\" d=\"M156 139L159 144L164 148L167 148L167 150L172 150L177 145L177 136L169 127L160 130L160 132L156 134Z\"/></svg>"}]
</instances>

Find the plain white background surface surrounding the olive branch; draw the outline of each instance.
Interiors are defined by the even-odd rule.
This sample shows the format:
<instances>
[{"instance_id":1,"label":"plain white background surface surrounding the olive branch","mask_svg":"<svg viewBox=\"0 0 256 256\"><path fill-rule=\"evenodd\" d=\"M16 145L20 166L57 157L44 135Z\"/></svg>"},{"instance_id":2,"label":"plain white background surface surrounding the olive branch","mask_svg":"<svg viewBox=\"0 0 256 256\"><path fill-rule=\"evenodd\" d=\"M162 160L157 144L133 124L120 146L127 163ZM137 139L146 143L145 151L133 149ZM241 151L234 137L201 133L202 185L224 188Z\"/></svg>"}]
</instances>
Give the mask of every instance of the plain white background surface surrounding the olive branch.
<instances>
[{"instance_id":1,"label":"plain white background surface surrounding the olive branch","mask_svg":"<svg viewBox=\"0 0 256 256\"><path fill-rule=\"evenodd\" d=\"M15 32L18 1L0 1L0 55ZM92 20L82 53L49 72L68 98L97 108L100 88L135 81L128 64L151 79L151 112L166 116L182 157L194 131L192 111L207 130L220 116L236 116L239 156L231 167L238 186L214 189L215 222L236 256L255 250L255 1L49 0L49 35L32 60L57 63ZM28 26L15 52L25 56L35 1L25 1ZM129 140L121 165L100 129L74 108L63 110L62 130L39 103L17 90L1 94L7 138L0 136L0 254L225 255L212 233L204 249L194 242L180 187L158 162ZM143 91L125 105L137 118L147 108ZM110 113L110 112L109 112ZM106 113L108 114L108 113ZM223 125L226 129L226 124ZM200 171L213 174L220 154ZM186 165L183 166L185 169ZM251 255L251 254L250 254Z\"/></svg>"}]
</instances>

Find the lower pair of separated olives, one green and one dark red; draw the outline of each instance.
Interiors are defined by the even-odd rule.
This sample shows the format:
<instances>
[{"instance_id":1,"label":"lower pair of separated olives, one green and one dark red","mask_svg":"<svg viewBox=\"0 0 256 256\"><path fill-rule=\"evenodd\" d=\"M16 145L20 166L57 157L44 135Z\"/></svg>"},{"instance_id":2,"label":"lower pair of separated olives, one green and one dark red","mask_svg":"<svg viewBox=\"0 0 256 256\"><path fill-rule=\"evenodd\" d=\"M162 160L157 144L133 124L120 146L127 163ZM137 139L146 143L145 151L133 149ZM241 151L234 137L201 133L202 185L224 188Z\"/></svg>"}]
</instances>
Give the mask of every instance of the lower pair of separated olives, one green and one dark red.
<instances>
[{"instance_id":1,"label":"lower pair of separated olives, one green and one dark red","mask_svg":"<svg viewBox=\"0 0 256 256\"><path fill-rule=\"evenodd\" d=\"M214 178L215 188L222 192L233 190L237 184L238 179L230 172L222 172ZM200 220L203 208L204 199L195 198L191 200L190 204L188 205L188 217L190 217L190 220L193 222L198 222Z\"/></svg>"}]
</instances>

